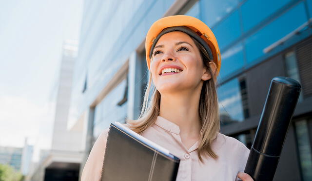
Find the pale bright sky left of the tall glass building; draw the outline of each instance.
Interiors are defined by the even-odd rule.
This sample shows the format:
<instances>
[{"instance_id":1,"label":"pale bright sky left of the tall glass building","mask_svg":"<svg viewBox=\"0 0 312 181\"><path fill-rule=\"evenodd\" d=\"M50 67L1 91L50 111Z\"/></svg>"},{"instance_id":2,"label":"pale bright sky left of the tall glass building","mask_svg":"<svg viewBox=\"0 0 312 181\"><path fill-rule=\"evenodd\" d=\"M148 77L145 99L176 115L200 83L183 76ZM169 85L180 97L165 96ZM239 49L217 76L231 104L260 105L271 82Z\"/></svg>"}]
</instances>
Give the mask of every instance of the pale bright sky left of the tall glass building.
<instances>
[{"instance_id":1,"label":"pale bright sky left of the tall glass building","mask_svg":"<svg viewBox=\"0 0 312 181\"><path fill-rule=\"evenodd\" d=\"M0 0L0 146L49 149L65 40L79 40L82 0Z\"/></svg>"}]
</instances>

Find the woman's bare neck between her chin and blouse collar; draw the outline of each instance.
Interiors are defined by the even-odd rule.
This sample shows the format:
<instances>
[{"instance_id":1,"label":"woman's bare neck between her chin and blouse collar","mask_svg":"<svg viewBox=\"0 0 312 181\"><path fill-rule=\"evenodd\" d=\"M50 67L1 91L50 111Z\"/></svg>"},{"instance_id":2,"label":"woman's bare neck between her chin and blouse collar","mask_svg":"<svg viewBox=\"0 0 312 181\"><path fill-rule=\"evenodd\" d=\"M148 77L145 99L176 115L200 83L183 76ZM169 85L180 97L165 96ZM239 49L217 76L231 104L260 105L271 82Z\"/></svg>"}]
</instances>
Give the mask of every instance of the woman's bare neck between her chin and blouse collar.
<instances>
[{"instance_id":1,"label":"woman's bare neck between her chin and blouse collar","mask_svg":"<svg viewBox=\"0 0 312 181\"><path fill-rule=\"evenodd\" d=\"M160 98L159 116L177 124L180 135L198 138L201 123L198 113L201 86L189 92L176 91L162 94Z\"/></svg>"}]
</instances>

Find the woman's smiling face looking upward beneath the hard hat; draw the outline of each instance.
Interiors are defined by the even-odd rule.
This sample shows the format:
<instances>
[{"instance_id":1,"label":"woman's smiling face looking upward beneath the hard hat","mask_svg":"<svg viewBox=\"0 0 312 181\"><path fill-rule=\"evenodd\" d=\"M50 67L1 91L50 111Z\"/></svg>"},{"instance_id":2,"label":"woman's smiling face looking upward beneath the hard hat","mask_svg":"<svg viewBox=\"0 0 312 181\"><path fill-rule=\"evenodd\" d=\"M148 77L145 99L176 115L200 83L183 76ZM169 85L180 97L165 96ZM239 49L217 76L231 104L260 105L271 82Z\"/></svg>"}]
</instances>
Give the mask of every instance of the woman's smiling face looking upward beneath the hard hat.
<instances>
[{"instance_id":1,"label":"woman's smiling face looking upward beneath the hard hat","mask_svg":"<svg viewBox=\"0 0 312 181\"><path fill-rule=\"evenodd\" d=\"M157 41L151 59L154 85L160 93L194 90L209 80L199 49L191 37L174 31Z\"/></svg>"}]
</instances>

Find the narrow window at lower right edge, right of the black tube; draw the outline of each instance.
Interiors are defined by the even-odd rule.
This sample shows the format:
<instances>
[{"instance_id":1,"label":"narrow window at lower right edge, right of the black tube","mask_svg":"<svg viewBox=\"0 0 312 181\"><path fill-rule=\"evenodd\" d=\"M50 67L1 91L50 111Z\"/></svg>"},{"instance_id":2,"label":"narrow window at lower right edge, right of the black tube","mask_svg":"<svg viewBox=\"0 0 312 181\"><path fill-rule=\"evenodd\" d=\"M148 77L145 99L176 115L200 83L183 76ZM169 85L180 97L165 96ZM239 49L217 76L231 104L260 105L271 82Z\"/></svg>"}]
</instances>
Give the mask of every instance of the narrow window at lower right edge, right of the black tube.
<instances>
[{"instance_id":1,"label":"narrow window at lower right edge, right of the black tube","mask_svg":"<svg viewBox=\"0 0 312 181\"><path fill-rule=\"evenodd\" d=\"M296 121L295 127L302 178L303 181L312 181L312 156L307 121Z\"/></svg>"}]
</instances>

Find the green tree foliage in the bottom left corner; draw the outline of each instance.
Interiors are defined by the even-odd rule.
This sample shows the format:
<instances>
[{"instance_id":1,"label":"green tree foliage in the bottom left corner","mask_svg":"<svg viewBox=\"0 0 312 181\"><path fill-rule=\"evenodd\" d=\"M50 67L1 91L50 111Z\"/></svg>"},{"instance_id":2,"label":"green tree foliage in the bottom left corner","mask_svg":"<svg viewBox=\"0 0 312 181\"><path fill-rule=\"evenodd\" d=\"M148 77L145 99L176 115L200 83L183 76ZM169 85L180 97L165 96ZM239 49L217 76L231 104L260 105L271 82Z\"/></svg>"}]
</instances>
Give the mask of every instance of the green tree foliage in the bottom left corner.
<instances>
[{"instance_id":1,"label":"green tree foliage in the bottom left corner","mask_svg":"<svg viewBox=\"0 0 312 181\"><path fill-rule=\"evenodd\" d=\"M0 181L21 181L23 176L7 164L0 164Z\"/></svg>"}]
</instances>

